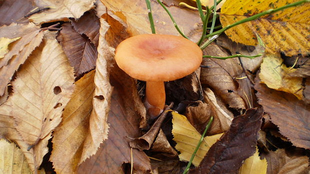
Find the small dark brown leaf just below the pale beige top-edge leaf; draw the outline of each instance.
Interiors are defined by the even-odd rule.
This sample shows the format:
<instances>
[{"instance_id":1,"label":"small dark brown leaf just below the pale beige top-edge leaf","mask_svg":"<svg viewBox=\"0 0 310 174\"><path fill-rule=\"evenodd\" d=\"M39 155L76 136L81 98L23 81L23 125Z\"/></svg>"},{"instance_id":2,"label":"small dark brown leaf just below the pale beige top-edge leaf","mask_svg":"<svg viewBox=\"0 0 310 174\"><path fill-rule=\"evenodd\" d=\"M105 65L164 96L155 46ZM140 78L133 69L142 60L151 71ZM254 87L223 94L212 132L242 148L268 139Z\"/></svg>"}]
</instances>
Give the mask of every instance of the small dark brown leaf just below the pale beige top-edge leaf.
<instances>
[{"instance_id":1,"label":"small dark brown leaf just below the pale beige top-edge leaf","mask_svg":"<svg viewBox=\"0 0 310 174\"><path fill-rule=\"evenodd\" d=\"M92 10L86 11L77 21L72 20L72 25L79 34L85 34L97 47L99 41L99 18Z\"/></svg>"}]
</instances>

